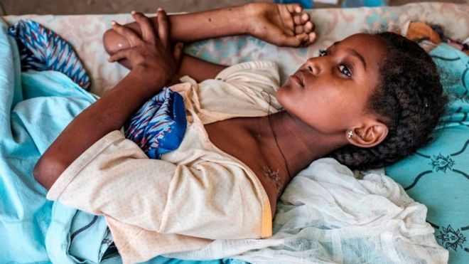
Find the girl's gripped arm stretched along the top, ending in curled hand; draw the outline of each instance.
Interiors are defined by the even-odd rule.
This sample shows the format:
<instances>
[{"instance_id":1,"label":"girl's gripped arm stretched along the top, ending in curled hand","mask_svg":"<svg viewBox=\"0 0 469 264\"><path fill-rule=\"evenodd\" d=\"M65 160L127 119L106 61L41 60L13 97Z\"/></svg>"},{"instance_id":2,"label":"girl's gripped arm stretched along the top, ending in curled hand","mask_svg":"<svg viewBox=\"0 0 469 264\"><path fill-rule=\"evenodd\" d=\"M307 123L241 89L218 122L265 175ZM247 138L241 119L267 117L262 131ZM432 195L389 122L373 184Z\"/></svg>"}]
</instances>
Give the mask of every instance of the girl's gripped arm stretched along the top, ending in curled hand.
<instances>
[{"instance_id":1,"label":"girl's gripped arm stretched along the top, ending in curled hand","mask_svg":"<svg viewBox=\"0 0 469 264\"><path fill-rule=\"evenodd\" d=\"M139 16L143 16L139 14ZM153 28L158 28L158 19L151 18ZM252 3L227 9L216 9L190 14L169 16L171 24L170 39L173 42L198 41L249 34L277 46L308 46L316 39L314 24L309 14L303 13L299 4ZM142 34L138 24L125 25ZM129 43L114 29L104 33L104 48L109 55L128 48ZM126 60L119 63L130 68ZM183 56L176 78L190 75L197 81L215 78L224 65L208 63L191 56Z\"/></svg>"}]
</instances>

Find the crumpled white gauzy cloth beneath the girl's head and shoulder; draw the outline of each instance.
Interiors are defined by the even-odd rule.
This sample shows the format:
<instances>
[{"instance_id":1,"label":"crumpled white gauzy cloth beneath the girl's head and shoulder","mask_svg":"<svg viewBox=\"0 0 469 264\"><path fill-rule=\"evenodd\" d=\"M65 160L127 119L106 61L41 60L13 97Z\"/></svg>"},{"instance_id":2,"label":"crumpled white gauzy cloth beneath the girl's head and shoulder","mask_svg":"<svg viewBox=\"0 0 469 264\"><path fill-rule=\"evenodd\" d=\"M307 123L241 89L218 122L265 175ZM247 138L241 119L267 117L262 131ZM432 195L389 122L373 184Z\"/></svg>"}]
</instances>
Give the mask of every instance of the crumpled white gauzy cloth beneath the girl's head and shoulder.
<instances>
[{"instance_id":1,"label":"crumpled white gauzy cloth beneath the girl's head and shoulder","mask_svg":"<svg viewBox=\"0 0 469 264\"><path fill-rule=\"evenodd\" d=\"M447 263L426 223L426 206L380 171L356 179L335 159L295 176L277 204L274 235L217 240L182 259L230 256L250 263Z\"/></svg>"}]
</instances>

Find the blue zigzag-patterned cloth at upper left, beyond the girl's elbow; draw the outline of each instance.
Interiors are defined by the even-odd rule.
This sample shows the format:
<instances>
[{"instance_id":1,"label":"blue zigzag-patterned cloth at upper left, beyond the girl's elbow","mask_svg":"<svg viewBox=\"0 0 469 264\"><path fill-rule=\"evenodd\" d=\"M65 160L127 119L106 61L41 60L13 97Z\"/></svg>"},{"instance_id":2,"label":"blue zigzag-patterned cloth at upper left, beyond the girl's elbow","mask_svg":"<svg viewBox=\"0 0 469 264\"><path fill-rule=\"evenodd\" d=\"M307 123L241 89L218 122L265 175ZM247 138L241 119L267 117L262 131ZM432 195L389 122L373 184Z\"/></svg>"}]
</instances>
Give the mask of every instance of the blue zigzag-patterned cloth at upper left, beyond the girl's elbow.
<instances>
[{"instance_id":1,"label":"blue zigzag-patterned cloth at upper left, beyond the girl's elbow","mask_svg":"<svg viewBox=\"0 0 469 264\"><path fill-rule=\"evenodd\" d=\"M77 85L90 90L90 77L72 46L55 32L31 20L10 26L21 54L21 70L55 70L67 75Z\"/></svg>"}]
</instances>

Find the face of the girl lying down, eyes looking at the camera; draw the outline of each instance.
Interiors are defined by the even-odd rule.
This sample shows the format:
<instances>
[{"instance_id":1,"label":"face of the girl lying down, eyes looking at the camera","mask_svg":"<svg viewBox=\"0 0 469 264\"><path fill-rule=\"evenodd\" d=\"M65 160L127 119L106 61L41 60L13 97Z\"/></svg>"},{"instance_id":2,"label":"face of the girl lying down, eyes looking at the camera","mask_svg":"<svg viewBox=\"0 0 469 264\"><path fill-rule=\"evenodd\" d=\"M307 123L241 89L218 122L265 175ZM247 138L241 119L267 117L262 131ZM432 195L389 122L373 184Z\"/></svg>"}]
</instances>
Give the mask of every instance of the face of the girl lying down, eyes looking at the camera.
<instances>
[{"instance_id":1,"label":"face of the girl lying down, eyes looking at the camera","mask_svg":"<svg viewBox=\"0 0 469 264\"><path fill-rule=\"evenodd\" d=\"M379 85L384 42L355 34L309 58L276 93L285 110L323 133L343 132L373 117L367 102Z\"/></svg>"}]
</instances>

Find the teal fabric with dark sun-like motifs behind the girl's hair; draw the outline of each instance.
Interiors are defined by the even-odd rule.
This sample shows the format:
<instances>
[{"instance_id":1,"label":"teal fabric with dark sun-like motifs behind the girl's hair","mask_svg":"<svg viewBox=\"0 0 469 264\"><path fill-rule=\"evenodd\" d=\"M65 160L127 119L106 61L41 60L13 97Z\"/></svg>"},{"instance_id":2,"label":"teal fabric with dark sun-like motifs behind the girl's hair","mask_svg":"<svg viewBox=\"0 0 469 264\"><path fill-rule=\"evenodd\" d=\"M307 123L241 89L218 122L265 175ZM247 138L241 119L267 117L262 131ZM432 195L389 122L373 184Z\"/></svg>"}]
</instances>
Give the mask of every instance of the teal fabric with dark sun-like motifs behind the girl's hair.
<instances>
[{"instance_id":1,"label":"teal fabric with dark sun-like motifs behind the girl's hair","mask_svg":"<svg viewBox=\"0 0 469 264\"><path fill-rule=\"evenodd\" d=\"M450 102L436 139L386 168L409 196L428 207L427 221L449 263L469 263L469 57L441 44L430 52Z\"/></svg>"}]
</instances>

